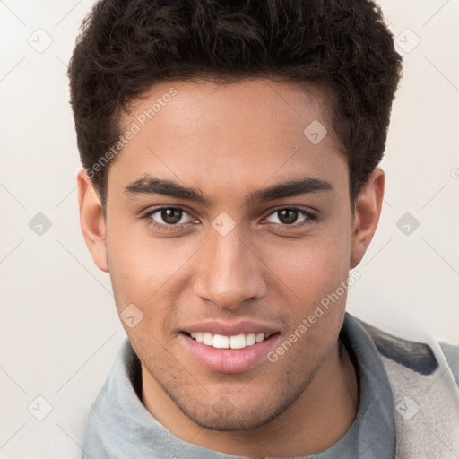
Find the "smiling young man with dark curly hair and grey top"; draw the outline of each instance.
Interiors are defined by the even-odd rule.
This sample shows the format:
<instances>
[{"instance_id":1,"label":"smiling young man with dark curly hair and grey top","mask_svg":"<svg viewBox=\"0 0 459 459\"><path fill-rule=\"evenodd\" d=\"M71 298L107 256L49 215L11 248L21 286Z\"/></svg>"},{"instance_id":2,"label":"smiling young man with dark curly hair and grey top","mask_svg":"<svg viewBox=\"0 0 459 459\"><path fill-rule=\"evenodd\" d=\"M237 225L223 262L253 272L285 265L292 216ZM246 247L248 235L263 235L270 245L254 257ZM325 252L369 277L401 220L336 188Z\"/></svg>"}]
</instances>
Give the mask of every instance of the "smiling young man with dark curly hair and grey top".
<instances>
[{"instance_id":1,"label":"smiling young man with dark curly hair and grey top","mask_svg":"<svg viewBox=\"0 0 459 459\"><path fill-rule=\"evenodd\" d=\"M80 218L127 339L83 458L459 455L459 350L345 312L400 74L366 0L94 5Z\"/></svg>"}]
</instances>

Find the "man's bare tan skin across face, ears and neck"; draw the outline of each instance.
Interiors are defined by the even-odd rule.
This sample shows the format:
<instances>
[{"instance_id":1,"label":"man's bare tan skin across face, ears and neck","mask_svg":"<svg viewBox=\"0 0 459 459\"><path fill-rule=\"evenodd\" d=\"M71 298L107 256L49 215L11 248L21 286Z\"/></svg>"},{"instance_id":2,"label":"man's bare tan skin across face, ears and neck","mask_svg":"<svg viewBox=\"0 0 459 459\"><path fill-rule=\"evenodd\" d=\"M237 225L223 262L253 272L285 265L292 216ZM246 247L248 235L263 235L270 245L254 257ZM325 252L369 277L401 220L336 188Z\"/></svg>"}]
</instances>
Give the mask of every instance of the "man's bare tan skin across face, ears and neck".
<instances>
[{"instance_id":1,"label":"man's bare tan skin across face, ears and neck","mask_svg":"<svg viewBox=\"0 0 459 459\"><path fill-rule=\"evenodd\" d=\"M350 428L359 405L356 374L338 340L345 293L276 362L263 359L238 374L204 368L181 331L210 319L251 320L278 330L275 350L359 264L377 228L384 172L375 169L352 214L347 162L324 99L293 82L161 82L123 126L171 86L177 95L110 166L105 220L91 180L78 174L82 232L94 262L110 273L117 311L134 303L143 312L133 328L122 322L142 362L143 404L177 437L222 453L323 451ZM318 144L303 134L313 120L329 133ZM144 174L199 188L211 203L127 194ZM245 201L254 189L299 176L333 188ZM177 205L188 212L178 230L149 224L167 226L161 212L144 217ZM275 212L291 207L317 218L298 212L289 224ZM226 236L212 227L221 212L235 222Z\"/></svg>"}]
</instances>

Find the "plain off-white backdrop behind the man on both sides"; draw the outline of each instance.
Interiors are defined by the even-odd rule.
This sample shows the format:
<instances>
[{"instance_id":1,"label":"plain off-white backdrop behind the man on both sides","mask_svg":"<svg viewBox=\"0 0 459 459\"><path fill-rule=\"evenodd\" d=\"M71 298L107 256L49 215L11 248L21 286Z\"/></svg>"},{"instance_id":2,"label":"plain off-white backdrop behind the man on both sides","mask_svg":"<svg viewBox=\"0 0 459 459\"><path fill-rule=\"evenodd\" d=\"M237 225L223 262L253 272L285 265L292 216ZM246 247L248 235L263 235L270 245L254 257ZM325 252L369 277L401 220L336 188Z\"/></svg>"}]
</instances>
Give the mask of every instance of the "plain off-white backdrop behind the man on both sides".
<instances>
[{"instance_id":1,"label":"plain off-white backdrop behind the man on both sides","mask_svg":"<svg viewBox=\"0 0 459 459\"><path fill-rule=\"evenodd\" d=\"M381 4L404 48L403 82L385 205L349 311L459 342L459 2ZM0 0L0 457L80 457L84 416L125 337L77 212L65 71L90 6ZM51 221L41 236L29 227L38 212ZM420 222L408 236L396 225L406 212ZM52 406L44 420L27 409L38 395Z\"/></svg>"}]
</instances>

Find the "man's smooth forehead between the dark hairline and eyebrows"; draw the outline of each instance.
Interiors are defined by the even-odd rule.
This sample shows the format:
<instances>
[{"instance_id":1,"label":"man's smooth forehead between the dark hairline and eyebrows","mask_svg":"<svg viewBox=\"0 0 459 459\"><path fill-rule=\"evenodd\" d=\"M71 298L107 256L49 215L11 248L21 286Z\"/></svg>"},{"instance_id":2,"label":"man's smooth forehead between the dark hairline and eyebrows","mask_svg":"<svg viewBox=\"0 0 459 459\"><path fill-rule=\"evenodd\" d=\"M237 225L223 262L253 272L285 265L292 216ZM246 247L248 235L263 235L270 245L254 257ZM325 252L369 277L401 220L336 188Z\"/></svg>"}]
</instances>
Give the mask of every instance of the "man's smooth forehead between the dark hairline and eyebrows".
<instances>
[{"instance_id":1,"label":"man's smooth forehead between the dark hairline and eyebrows","mask_svg":"<svg viewBox=\"0 0 459 459\"><path fill-rule=\"evenodd\" d=\"M122 118L122 134L134 134L117 155L109 185L126 186L144 174L209 193L298 174L336 184L347 178L347 164L326 103L320 91L295 82L160 82Z\"/></svg>"}]
</instances>

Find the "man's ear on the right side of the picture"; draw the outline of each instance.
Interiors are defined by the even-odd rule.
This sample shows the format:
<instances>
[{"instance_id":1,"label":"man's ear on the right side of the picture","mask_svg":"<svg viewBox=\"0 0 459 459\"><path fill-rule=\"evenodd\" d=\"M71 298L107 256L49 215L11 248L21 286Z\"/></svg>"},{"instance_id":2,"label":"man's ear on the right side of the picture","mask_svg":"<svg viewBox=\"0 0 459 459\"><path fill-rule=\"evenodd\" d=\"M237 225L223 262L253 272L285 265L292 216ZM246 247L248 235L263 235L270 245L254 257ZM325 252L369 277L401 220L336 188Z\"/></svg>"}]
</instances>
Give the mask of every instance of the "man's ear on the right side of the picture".
<instances>
[{"instance_id":1,"label":"man's ear on the right side of the picture","mask_svg":"<svg viewBox=\"0 0 459 459\"><path fill-rule=\"evenodd\" d=\"M357 198L351 236L350 269L360 263L377 230L377 222L383 206L384 186L384 170L376 168Z\"/></svg>"}]
</instances>

